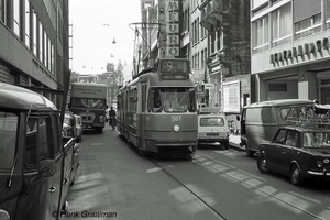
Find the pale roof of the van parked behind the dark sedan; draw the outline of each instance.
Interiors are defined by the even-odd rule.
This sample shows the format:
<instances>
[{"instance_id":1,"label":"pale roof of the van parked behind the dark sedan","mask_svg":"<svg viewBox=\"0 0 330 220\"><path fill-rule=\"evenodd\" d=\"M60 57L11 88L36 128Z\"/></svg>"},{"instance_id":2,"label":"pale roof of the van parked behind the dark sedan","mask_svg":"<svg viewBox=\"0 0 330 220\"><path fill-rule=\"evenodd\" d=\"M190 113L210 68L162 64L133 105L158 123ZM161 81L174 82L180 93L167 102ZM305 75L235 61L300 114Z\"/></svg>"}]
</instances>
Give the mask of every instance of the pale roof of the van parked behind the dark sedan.
<instances>
[{"instance_id":1,"label":"pale roof of the van parked behind the dark sedan","mask_svg":"<svg viewBox=\"0 0 330 220\"><path fill-rule=\"evenodd\" d=\"M272 106L294 106L294 105L312 105L314 101L308 99L276 99L251 103L244 108L272 107Z\"/></svg>"}]
</instances>

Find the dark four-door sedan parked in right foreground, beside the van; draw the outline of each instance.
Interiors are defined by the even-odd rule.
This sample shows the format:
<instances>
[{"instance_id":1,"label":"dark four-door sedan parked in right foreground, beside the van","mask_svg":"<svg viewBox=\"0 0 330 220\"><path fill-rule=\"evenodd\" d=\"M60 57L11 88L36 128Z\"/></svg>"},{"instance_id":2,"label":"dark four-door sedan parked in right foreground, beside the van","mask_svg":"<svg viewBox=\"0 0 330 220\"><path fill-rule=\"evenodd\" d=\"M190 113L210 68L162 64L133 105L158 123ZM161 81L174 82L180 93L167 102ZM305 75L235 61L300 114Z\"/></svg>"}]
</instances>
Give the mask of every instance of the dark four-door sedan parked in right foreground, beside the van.
<instances>
[{"instance_id":1,"label":"dark four-door sedan parked in right foreground, beside the van","mask_svg":"<svg viewBox=\"0 0 330 220\"><path fill-rule=\"evenodd\" d=\"M305 178L330 180L330 129L287 125L278 129L272 141L262 141L257 168L290 177L293 185Z\"/></svg>"}]
</instances>

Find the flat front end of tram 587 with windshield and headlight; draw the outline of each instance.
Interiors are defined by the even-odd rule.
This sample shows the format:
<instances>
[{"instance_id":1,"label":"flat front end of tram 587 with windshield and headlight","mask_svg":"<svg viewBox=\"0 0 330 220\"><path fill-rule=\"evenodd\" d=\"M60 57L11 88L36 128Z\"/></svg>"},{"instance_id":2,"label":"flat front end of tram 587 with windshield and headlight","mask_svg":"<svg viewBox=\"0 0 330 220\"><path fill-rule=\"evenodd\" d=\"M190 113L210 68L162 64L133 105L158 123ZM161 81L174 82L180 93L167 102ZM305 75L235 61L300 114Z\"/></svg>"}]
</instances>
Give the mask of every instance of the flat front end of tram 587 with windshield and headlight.
<instances>
[{"instance_id":1,"label":"flat front end of tram 587 with windshield and headlight","mask_svg":"<svg viewBox=\"0 0 330 220\"><path fill-rule=\"evenodd\" d=\"M155 156L191 158L197 148L195 80L188 68L178 68L179 65L166 61L162 67L161 62L160 76L150 81L144 144ZM175 70L168 68L174 66Z\"/></svg>"}]
</instances>

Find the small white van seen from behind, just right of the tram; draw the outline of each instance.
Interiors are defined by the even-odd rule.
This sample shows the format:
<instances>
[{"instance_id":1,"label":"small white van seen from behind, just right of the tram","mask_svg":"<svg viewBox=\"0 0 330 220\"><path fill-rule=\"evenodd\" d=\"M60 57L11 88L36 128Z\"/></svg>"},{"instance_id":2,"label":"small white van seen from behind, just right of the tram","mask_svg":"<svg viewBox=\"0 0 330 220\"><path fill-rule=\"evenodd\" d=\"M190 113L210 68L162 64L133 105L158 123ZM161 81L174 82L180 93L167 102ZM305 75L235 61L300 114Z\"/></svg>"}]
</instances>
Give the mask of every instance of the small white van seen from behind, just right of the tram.
<instances>
[{"instance_id":1,"label":"small white van seen from behind, just right of the tram","mask_svg":"<svg viewBox=\"0 0 330 220\"><path fill-rule=\"evenodd\" d=\"M229 148L229 128L224 113L211 113L204 110L198 114L198 145L219 142Z\"/></svg>"}]
</instances>

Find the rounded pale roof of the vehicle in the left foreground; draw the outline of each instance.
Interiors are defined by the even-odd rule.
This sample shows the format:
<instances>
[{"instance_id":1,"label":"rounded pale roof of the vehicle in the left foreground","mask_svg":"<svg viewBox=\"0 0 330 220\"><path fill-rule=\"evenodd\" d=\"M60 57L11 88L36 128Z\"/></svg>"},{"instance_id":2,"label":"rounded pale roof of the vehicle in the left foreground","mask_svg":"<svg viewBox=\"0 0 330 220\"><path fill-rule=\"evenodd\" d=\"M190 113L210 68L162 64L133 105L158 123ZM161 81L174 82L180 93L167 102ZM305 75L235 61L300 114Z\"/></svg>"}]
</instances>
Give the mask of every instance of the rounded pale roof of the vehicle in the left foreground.
<instances>
[{"instance_id":1,"label":"rounded pale roof of the vehicle in the left foreground","mask_svg":"<svg viewBox=\"0 0 330 220\"><path fill-rule=\"evenodd\" d=\"M55 105L46 97L19 86L0 82L0 108L54 111Z\"/></svg>"}]
</instances>

